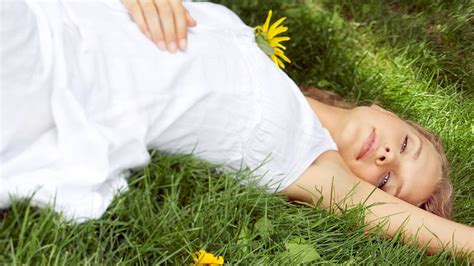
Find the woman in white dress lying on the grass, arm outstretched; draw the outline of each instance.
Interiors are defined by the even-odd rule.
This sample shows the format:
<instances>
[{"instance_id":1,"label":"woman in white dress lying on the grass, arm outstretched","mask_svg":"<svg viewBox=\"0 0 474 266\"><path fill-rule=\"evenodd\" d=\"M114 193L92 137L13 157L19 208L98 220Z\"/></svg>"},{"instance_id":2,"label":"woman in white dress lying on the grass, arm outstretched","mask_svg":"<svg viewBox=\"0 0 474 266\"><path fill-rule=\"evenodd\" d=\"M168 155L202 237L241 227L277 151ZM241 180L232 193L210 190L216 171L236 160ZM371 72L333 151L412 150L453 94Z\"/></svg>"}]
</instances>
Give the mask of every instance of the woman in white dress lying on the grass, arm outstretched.
<instances>
[{"instance_id":1,"label":"woman in white dress lying on the grass, arm outstretched","mask_svg":"<svg viewBox=\"0 0 474 266\"><path fill-rule=\"evenodd\" d=\"M362 204L368 228L429 252L474 251L474 229L441 217L450 186L434 136L376 105L305 98L228 9L187 4L197 26L170 54L119 2L1 8L0 206L31 197L99 218L158 149L255 169L250 182L293 200Z\"/></svg>"}]
</instances>

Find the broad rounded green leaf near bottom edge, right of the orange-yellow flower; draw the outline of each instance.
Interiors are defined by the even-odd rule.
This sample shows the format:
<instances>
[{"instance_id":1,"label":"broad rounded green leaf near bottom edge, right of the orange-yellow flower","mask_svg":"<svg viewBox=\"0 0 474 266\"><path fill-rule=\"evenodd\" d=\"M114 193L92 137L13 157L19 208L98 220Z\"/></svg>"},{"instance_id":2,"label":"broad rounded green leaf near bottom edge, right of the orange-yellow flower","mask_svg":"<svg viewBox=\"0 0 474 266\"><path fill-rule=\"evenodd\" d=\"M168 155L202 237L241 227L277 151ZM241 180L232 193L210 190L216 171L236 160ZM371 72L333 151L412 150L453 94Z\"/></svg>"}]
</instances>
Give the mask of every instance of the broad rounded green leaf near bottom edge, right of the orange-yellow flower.
<instances>
[{"instance_id":1,"label":"broad rounded green leaf near bottom edge, right of the orange-yellow flower","mask_svg":"<svg viewBox=\"0 0 474 266\"><path fill-rule=\"evenodd\" d=\"M295 238L285 243L286 253L295 263L308 263L320 260L318 251L303 238Z\"/></svg>"}]
</instances>

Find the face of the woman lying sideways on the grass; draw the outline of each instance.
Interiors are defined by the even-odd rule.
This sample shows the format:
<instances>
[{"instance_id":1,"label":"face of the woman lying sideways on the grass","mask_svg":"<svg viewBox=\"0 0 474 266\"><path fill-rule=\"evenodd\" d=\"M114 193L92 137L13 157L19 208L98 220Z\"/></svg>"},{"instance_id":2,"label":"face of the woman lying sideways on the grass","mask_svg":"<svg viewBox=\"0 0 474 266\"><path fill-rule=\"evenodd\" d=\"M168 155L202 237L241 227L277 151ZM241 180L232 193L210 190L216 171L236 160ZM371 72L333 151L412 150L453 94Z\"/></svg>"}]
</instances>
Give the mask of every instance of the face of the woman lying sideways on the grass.
<instances>
[{"instance_id":1,"label":"face of the woman lying sideways on the grass","mask_svg":"<svg viewBox=\"0 0 474 266\"><path fill-rule=\"evenodd\" d=\"M339 152L359 178L413 205L426 201L441 178L431 142L377 105L351 110Z\"/></svg>"}]
</instances>

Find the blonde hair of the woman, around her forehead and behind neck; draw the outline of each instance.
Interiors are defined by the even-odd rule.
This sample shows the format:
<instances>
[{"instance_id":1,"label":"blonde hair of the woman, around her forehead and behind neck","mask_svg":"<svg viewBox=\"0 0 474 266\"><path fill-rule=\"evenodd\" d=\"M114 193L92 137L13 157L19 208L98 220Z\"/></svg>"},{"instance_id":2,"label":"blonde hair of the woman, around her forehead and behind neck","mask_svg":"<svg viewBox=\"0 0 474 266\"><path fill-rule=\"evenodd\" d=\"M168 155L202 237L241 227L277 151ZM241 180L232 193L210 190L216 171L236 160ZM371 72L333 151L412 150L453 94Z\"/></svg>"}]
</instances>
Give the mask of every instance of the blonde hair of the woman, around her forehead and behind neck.
<instances>
[{"instance_id":1,"label":"blonde hair of the woman, around her forehead and behind neck","mask_svg":"<svg viewBox=\"0 0 474 266\"><path fill-rule=\"evenodd\" d=\"M301 86L300 89L304 95L328 105L346 109L355 107L354 103L345 101L341 96L334 92L320 90L308 86ZM422 203L419 207L433 214L449 219L452 216L453 209L453 185L448 179L449 163L448 159L446 158L441 139L416 122L410 120L405 120L405 122L407 122L421 136L433 144L439 154L441 162L441 179L438 182L433 194L431 194L428 200Z\"/></svg>"}]
</instances>

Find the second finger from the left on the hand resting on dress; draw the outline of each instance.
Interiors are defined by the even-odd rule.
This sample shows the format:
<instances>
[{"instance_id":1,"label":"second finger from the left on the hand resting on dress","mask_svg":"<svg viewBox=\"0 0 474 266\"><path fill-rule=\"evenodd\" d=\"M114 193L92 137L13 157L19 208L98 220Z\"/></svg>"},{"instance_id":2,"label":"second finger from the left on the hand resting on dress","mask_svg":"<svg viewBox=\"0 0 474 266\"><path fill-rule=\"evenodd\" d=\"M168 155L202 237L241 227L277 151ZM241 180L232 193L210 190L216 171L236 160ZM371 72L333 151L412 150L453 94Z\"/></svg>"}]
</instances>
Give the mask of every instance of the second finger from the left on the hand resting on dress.
<instances>
[{"instance_id":1,"label":"second finger from the left on the hand resting on dress","mask_svg":"<svg viewBox=\"0 0 474 266\"><path fill-rule=\"evenodd\" d=\"M158 11L156 10L155 3L153 0L139 1L152 40L155 42L158 48L161 50L166 50L166 43L164 41L160 18L158 17Z\"/></svg>"}]
</instances>

